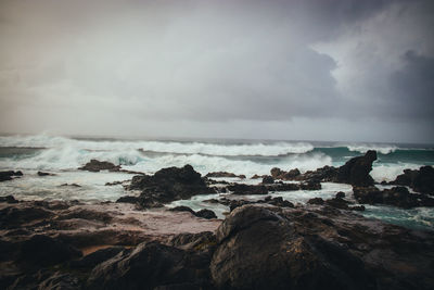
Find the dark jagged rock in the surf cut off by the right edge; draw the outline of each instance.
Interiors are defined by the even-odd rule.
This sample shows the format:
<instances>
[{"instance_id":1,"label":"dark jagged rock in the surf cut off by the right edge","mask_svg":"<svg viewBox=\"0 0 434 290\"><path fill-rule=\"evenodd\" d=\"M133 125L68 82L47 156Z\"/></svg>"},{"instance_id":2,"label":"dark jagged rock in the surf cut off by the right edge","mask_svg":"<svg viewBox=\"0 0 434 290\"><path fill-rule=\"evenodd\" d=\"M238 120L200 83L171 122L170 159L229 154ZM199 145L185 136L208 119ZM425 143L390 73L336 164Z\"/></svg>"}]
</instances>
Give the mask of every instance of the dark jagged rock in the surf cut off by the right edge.
<instances>
[{"instance_id":1,"label":"dark jagged rock in the surf cut off by the right edge","mask_svg":"<svg viewBox=\"0 0 434 290\"><path fill-rule=\"evenodd\" d=\"M417 192L434 196L434 168L422 166L419 171L405 169L391 185L409 186Z\"/></svg>"}]
</instances>

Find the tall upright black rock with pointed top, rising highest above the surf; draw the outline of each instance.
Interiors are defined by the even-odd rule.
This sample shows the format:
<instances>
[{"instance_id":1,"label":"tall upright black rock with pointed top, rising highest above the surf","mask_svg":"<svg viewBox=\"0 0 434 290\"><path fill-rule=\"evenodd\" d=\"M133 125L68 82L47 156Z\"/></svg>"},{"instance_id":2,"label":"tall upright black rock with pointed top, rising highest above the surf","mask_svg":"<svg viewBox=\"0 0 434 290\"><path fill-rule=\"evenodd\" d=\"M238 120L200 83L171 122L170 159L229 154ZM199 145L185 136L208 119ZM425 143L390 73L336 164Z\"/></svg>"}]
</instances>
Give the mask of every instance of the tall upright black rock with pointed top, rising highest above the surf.
<instances>
[{"instance_id":1,"label":"tall upright black rock with pointed top, rising highest above the surf","mask_svg":"<svg viewBox=\"0 0 434 290\"><path fill-rule=\"evenodd\" d=\"M337 181L354 186L371 186L373 179L369 175L372 163L376 160L376 152L369 150L365 156L350 159L337 171Z\"/></svg>"}]
</instances>

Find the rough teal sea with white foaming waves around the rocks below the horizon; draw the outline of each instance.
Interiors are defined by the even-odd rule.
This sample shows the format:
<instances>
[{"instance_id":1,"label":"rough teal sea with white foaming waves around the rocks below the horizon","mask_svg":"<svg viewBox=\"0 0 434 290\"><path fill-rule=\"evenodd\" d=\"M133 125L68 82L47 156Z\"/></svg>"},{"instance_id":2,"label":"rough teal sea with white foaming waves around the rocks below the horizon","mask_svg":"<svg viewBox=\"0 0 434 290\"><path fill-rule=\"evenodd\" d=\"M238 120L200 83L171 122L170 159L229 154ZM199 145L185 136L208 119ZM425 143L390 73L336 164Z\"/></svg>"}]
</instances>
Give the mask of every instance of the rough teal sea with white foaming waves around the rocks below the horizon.
<instances>
[{"instance_id":1,"label":"rough teal sea with white foaming waves around the rocks below the horizon","mask_svg":"<svg viewBox=\"0 0 434 290\"><path fill-rule=\"evenodd\" d=\"M371 176L375 181L391 181L404 169L434 165L434 146L323 142L285 140L233 139L113 139L61 136L0 136L0 171L22 171L24 176L0 182L0 196L12 194L20 200L79 200L82 202L116 201L130 194L122 185L133 175L127 173L79 171L92 159L122 165L124 169L153 174L169 166L190 164L202 175L210 172L230 172L245 175L246 179L216 178L228 181L258 184L255 174L269 174L273 167L284 171L298 168L312 171L324 165L341 166L349 159L368 150L376 150L378 160ZM38 176L37 172L52 176ZM79 187L77 187L77 185ZM387 188L387 186L379 186ZM390 186L388 186L390 187ZM323 182L321 190L271 193L293 203L304 204L310 198L332 198L344 191L353 200L352 187ZM138 194L138 192L136 192ZM193 210L209 209L224 217L229 209L204 202L228 193L201 194L190 200L176 201L168 206L187 205ZM263 199L246 197L242 199ZM403 210L394 206L368 205L360 214L409 228L434 230L434 209Z\"/></svg>"}]
</instances>

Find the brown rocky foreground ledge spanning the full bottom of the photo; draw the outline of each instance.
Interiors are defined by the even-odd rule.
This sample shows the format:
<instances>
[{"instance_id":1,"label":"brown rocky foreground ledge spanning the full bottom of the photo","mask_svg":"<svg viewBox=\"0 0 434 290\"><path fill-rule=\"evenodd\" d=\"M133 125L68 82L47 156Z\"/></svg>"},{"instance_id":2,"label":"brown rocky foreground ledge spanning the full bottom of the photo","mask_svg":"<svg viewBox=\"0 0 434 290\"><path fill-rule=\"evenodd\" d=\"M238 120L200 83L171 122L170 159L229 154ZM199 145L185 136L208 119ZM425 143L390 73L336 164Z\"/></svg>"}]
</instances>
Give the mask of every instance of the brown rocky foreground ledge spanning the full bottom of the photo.
<instances>
[{"instance_id":1,"label":"brown rocky foreground ledge spanning the full bottom of the photo","mask_svg":"<svg viewBox=\"0 0 434 290\"><path fill-rule=\"evenodd\" d=\"M245 204L222 222L183 212L133 215L130 207L116 206L0 203L0 288L424 290L434 285L433 232L331 206ZM142 224L142 215L154 219ZM170 229L162 235L163 225L154 223L165 218ZM179 232L186 218L195 222ZM197 228L202 231L191 231ZM105 247L84 248L101 243Z\"/></svg>"}]
</instances>

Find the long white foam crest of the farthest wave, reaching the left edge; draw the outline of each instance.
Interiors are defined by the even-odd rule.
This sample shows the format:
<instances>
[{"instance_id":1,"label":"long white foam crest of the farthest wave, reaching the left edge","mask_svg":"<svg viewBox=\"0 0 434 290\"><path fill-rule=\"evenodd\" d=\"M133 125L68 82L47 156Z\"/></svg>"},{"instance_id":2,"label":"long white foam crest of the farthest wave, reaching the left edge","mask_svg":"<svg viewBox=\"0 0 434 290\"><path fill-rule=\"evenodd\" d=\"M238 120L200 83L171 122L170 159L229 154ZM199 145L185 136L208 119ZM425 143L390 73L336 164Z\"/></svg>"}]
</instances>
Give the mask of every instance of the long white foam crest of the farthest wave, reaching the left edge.
<instances>
[{"instance_id":1,"label":"long white foam crest of the farthest wave, reaching the left edge","mask_svg":"<svg viewBox=\"0 0 434 290\"><path fill-rule=\"evenodd\" d=\"M175 141L120 141L120 140L77 140L64 137L50 136L7 136L0 137L1 147L30 147L30 148L60 148L75 147L88 150L128 150L142 149L163 153L206 154L222 156L279 156L290 153L306 153L314 150L314 146L306 142L275 142L275 143L245 143L221 144L205 142L175 142Z\"/></svg>"}]
</instances>

